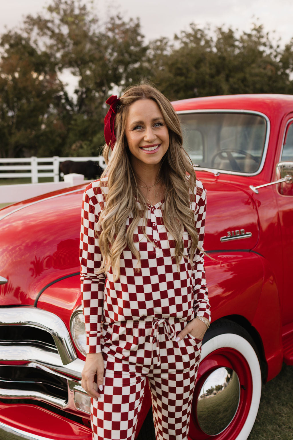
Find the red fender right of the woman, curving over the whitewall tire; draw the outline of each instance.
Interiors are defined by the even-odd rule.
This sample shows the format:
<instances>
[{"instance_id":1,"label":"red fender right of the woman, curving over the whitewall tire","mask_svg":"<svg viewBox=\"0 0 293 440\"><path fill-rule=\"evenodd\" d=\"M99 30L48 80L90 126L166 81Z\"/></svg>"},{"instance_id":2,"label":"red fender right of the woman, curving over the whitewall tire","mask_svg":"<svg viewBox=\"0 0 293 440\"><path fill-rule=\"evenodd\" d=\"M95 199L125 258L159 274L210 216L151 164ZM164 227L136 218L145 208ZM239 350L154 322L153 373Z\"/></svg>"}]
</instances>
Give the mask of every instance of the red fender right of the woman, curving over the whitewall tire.
<instances>
[{"instance_id":1,"label":"red fender right of the woman, curving over the whitewall tire","mask_svg":"<svg viewBox=\"0 0 293 440\"><path fill-rule=\"evenodd\" d=\"M267 260L252 251L211 253L205 259L212 320L245 318L258 332L268 380L282 367L281 315L277 284Z\"/></svg>"}]
</instances>

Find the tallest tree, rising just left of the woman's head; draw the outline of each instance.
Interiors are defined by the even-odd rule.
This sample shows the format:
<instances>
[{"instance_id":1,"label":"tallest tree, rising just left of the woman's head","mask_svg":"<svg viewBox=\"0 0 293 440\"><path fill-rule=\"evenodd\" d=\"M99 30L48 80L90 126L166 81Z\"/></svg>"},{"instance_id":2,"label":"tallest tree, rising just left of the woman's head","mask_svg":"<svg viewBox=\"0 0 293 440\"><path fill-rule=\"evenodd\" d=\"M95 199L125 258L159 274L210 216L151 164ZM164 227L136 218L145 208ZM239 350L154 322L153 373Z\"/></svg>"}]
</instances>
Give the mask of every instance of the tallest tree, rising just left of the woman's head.
<instances>
[{"instance_id":1,"label":"tallest tree, rising just left of the woman's head","mask_svg":"<svg viewBox=\"0 0 293 440\"><path fill-rule=\"evenodd\" d=\"M37 35L54 59L58 72L78 77L74 114L65 154L98 153L104 143L103 120L109 92L136 83L147 47L138 19L125 22L118 14L100 23L79 0L54 0L48 14L25 19L25 32Z\"/></svg>"}]
</instances>

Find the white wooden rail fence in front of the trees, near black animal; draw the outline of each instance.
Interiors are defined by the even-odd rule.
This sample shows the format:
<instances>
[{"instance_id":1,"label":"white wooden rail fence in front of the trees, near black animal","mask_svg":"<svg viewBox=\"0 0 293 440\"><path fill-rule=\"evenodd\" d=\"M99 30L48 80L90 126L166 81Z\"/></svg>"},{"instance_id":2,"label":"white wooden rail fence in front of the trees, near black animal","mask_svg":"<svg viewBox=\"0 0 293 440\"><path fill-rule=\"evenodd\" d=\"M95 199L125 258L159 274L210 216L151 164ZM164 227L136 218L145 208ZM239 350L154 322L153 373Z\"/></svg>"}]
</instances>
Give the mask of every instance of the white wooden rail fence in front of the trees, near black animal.
<instances>
[{"instance_id":1,"label":"white wooden rail fence in front of the trees, near black animal","mask_svg":"<svg viewBox=\"0 0 293 440\"><path fill-rule=\"evenodd\" d=\"M59 163L63 161L94 161L98 162L101 168L105 168L103 156L87 158L61 158L59 156L53 156L53 158L37 158L35 156L18 159L0 158L0 179L29 177L32 183L38 183L40 177L53 177L54 182L59 182Z\"/></svg>"}]
</instances>

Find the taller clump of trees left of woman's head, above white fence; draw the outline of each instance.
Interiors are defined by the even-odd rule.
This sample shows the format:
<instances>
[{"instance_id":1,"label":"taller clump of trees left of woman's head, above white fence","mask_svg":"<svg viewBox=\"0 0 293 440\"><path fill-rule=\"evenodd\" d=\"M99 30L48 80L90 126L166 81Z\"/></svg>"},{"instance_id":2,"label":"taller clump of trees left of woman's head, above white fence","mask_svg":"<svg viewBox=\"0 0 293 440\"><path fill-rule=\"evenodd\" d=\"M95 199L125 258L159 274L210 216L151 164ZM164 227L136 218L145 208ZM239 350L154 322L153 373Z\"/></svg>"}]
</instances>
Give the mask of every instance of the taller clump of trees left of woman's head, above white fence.
<instances>
[{"instance_id":1,"label":"taller clump of trees left of woman's head, above white fence","mask_svg":"<svg viewBox=\"0 0 293 440\"><path fill-rule=\"evenodd\" d=\"M0 41L1 155L99 154L105 100L139 81L146 49L138 20L101 24L79 0L28 15ZM78 78L73 97L58 79L65 69Z\"/></svg>"}]
</instances>

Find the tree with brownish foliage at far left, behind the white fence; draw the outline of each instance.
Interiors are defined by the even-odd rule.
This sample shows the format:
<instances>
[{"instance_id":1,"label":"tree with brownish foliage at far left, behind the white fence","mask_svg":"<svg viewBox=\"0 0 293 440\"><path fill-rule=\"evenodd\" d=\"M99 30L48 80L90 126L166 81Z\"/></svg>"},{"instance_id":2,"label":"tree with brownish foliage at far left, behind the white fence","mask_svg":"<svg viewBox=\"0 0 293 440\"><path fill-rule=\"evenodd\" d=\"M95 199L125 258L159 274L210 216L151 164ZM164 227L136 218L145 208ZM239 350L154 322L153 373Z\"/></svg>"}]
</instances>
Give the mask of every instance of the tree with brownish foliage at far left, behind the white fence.
<instances>
[{"instance_id":1,"label":"tree with brownish foliage at far left, behind the white fence","mask_svg":"<svg viewBox=\"0 0 293 440\"><path fill-rule=\"evenodd\" d=\"M0 156L38 154L44 148L54 154L64 132L58 113L66 101L54 62L18 32L4 34L0 48ZM50 144L48 132L54 133Z\"/></svg>"}]
</instances>

